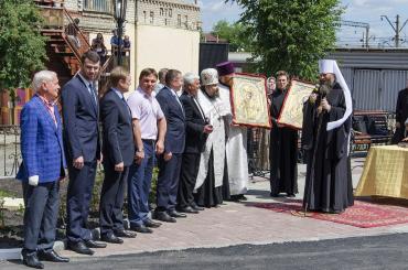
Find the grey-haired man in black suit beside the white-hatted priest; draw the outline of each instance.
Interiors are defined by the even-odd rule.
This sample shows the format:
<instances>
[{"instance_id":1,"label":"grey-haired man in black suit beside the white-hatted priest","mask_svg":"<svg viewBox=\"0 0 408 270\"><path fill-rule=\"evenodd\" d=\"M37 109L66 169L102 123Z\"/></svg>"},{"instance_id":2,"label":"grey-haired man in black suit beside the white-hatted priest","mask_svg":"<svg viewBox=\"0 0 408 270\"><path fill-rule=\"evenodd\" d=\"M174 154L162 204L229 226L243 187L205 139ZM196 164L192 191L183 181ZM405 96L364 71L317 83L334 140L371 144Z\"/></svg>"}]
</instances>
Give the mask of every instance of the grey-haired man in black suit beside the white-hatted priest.
<instances>
[{"instance_id":1,"label":"grey-haired man in black suit beside the white-hatted priest","mask_svg":"<svg viewBox=\"0 0 408 270\"><path fill-rule=\"evenodd\" d=\"M192 73L185 74L183 90L180 100L184 107L186 130L179 183L178 210L196 214L204 208L195 204L193 191L198 173L201 152L205 147L207 134L213 131L213 127L207 123L204 111L196 99L200 90L200 77Z\"/></svg>"}]
</instances>

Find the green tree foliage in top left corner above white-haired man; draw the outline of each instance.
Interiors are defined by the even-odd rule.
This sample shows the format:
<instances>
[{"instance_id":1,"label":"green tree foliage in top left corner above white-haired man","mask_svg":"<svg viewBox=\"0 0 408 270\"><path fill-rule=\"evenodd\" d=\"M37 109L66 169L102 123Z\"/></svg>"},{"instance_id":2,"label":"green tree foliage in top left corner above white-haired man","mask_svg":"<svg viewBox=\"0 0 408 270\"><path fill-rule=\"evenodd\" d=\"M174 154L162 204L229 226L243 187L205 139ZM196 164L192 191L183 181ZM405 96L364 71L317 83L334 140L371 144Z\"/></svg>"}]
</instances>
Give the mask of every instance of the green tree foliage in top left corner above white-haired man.
<instances>
[{"instance_id":1,"label":"green tree foliage in top left corner above white-haired man","mask_svg":"<svg viewBox=\"0 0 408 270\"><path fill-rule=\"evenodd\" d=\"M0 89L25 87L46 60L41 14L32 0L0 1Z\"/></svg>"}]
</instances>

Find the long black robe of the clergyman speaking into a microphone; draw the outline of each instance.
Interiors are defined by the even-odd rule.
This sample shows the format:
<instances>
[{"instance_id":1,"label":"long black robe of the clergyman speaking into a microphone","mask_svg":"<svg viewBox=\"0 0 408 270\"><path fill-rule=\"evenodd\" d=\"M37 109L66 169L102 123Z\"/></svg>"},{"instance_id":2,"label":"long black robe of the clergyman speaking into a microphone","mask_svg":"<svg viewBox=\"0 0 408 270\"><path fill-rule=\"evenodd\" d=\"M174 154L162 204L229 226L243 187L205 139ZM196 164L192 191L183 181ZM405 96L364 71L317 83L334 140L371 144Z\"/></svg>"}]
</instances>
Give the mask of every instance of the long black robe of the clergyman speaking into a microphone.
<instances>
[{"instance_id":1,"label":"long black robe of the clergyman speaking into a microphone","mask_svg":"<svg viewBox=\"0 0 408 270\"><path fill-rule=\"evenodd\" d=\"M328 131L330 121L345 112L345 98L335 83L326 96L331 110L318 115L318 102L303 108L302 148L307 154L303 207L309 210L339 213L354 204L348 136L351 117L339 128Z\"/></svg>"}]
</instances>

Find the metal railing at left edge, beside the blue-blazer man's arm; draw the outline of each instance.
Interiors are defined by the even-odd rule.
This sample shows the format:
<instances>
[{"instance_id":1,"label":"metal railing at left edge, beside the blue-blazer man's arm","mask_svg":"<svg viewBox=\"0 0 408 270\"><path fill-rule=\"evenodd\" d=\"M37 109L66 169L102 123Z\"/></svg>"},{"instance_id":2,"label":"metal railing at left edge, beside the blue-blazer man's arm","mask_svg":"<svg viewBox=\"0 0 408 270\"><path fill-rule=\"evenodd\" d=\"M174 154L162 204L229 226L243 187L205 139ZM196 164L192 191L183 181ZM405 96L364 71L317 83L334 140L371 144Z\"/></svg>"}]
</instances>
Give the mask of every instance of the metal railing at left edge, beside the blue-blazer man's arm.
<instances>
[{"instance_id":1,"label":"metal railing at left edge, beside the blue-blazer man's arm","mask_svg":"<svg viewBox=\"0 0 408 270\"><path fill-rule=\"evenodd\" d=\"M0 125L0 179L15 176L20 163L20 126Z\"/></svg>"}]
</instances>

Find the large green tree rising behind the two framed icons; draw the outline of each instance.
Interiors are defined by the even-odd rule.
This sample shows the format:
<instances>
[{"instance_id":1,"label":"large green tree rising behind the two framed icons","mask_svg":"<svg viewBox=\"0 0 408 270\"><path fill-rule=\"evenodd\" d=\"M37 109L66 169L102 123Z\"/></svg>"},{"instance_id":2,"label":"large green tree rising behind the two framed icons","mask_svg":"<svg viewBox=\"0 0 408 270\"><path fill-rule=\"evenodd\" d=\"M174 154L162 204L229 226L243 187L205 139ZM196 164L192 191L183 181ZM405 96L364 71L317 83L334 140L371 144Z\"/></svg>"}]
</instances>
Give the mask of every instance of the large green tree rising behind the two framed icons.
<instances>
[{"instance_id":1,"label":"large green tree rising behind the two framed icons","mask_svg":"<svg viewBox=\"0 0 408 270\"><path fill-rule=\"evenodd\" d=\"M314 80L318 60L335 46L335 22L343 8L340 0L226 0L244 12L239 22L251 41L258 72L270 75L284 69Z\"/></svg>"}]
</instances>

